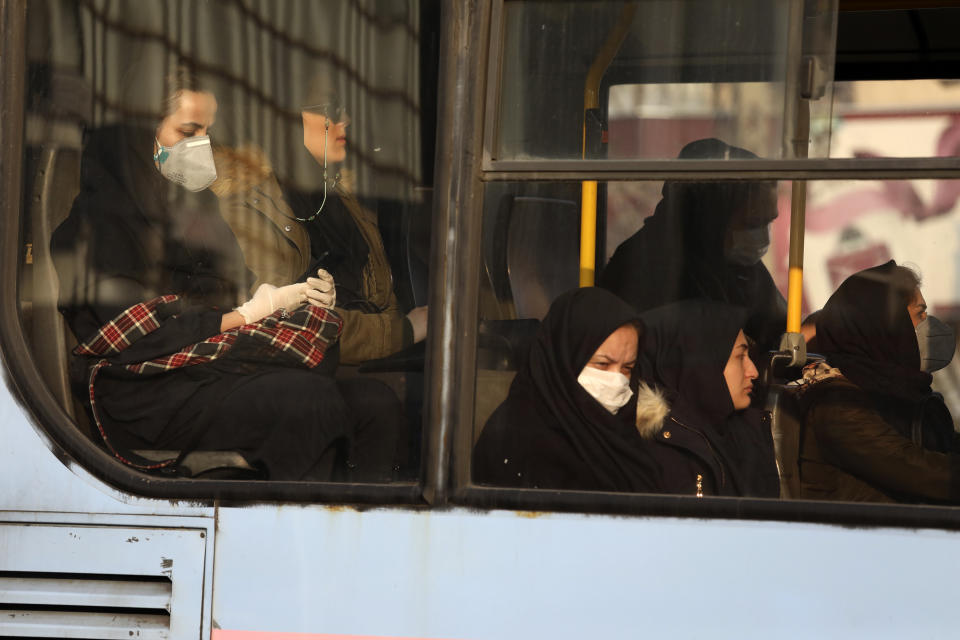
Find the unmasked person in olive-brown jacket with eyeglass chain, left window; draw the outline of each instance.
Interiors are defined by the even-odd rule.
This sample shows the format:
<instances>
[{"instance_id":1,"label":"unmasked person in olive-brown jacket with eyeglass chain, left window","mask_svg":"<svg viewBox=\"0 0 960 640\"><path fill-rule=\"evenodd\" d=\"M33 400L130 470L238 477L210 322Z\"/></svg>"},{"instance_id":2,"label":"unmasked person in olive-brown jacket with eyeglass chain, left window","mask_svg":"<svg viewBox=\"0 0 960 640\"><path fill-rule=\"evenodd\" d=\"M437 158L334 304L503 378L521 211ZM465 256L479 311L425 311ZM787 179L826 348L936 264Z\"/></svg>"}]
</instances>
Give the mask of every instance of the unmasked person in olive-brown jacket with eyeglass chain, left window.
<instances>
[{"instance_id":1,"label":"unmasked person in olive-brown jacket with eyeglass chain, left window","mask_svg":"<svg viewBox=\"0 0 960 640\"><path fill-rule=\"evenodd\" d=\"M215 185L227 203L224 218L257 282L321 268L333 275L343 318L341 363L389 356L426 337L427 308L400 309L377 215L353 195L340 168L350 117L325 78L314 81L300 115L316 188L286 183L281 194L262 153L241 154L246 160L235 164L250 166L248 175L259 176L253 180L258 184L253 190Z\"/></svg>"}]
</instances>

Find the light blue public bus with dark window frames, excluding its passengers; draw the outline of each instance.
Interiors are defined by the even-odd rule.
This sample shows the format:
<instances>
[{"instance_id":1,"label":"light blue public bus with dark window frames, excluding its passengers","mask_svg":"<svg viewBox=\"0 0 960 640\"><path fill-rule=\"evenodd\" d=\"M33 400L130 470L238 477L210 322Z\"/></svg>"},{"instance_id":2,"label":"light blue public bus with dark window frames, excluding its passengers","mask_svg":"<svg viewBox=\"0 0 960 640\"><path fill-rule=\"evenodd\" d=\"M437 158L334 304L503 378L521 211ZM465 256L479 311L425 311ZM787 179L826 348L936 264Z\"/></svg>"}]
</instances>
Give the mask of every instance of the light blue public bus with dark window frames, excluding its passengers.
<instances>
[{"instance_id":1,"label":"light blue public bus with dark window frames, excluding its passengers","mask_svg":"<svg viewBox=\"0 0 960 640\"><path fill-rule=\"evenodd\" d=\"M777 183L786 333L890 258L956 327L956 4L0 0L0 637L955 637L955 507L490 487L470 453L550 301L664 180ZM342 96L352 188L429 309L425 344L349 372L419 427L407 480L251 478L230 452L147 472L92 432L50 236L85 133L156 122L178 64L214 142L294 183L307 85ZM712 137L758 158L676 159Z\"/></svg>"}]
</instances>

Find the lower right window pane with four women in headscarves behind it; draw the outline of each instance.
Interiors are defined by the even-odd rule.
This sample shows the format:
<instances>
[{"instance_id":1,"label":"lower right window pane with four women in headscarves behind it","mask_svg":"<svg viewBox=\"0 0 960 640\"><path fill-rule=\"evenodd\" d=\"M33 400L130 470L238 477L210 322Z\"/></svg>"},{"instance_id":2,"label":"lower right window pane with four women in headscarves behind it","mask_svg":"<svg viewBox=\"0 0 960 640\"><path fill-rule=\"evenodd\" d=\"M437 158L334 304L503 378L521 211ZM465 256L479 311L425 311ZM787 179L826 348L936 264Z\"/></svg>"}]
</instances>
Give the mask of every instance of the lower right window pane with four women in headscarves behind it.
<instances>
[{"instance_id":1,"label":"lower right window pane with four women in headscarves behind it","mask_svg":"<svg viewBox=\"0 0 960 640\"><path fill-rule=\"evenodd\" d=\"M785 329L789 181L601 183L598 281L633 309L569 293L579 184L487 185L474 482L956 503L954 181L806 188L803 331L830 368L805 372L770 353Z\"/></svg>"}]
</instances>

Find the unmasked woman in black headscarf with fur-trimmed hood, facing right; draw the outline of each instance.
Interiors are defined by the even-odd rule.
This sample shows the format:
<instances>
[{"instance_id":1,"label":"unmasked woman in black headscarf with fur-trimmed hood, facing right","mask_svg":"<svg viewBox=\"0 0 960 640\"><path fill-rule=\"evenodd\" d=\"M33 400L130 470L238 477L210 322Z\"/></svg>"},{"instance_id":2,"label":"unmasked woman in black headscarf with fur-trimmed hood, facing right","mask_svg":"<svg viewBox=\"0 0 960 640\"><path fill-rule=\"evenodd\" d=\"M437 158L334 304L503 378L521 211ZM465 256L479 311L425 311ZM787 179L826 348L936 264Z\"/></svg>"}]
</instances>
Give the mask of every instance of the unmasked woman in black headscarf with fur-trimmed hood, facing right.
<instances>
[{"instance_id":1,"label":"unmasked woman in black headscarf with fur-trimmed hood, facing right","mask_svg":"<svg viewBox=\"0 0 960 640\"><path fill-rule=\"evenodd\" d=\"M687 300L641 314L641 375L655 397L638 404L637 429L662 470L664 493L776 498L770 421L750 408L757 368L746 312Z\"/></svg>"}]
</instances>

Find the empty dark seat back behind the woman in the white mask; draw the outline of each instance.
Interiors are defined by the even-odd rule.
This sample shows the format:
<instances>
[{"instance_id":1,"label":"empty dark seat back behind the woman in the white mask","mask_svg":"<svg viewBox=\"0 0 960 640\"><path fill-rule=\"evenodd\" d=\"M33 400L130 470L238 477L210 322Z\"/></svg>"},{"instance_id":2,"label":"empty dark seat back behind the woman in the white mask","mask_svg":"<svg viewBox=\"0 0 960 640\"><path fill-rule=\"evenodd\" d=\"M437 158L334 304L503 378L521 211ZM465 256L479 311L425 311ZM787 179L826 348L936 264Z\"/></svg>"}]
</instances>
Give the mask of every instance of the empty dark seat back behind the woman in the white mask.
<instances>
[{"instance_id":1,"label":"empty dark seat back behind the woman in the white mask","mask_svg":"<svg viewBox=\"0 0 960 640\"><path fill-rule=\"evenodd\" d=\"M580 209L572 200L504 196L494 237L494 290L517 318L542 320L580 282Z\"/></svg>"}]
</instances>

